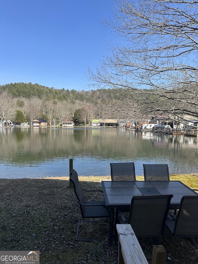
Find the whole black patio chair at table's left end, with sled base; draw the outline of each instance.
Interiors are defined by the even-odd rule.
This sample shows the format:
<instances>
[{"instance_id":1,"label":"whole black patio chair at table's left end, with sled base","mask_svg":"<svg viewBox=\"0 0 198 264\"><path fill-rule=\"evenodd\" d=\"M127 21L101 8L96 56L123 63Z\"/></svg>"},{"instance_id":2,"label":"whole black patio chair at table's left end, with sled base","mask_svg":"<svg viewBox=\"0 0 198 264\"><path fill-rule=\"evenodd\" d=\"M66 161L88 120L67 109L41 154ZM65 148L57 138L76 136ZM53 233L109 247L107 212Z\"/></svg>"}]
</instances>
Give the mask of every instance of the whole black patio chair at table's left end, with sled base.
<instances>
[{"instance_id":1,"label":"whole black patio chair at table's left end, with sled base","mask_svg":"<svg viewBox=\"0 0 198 264\"><path fill-rule=\"evenodd\" d=\"M77 234L76 234L76 240L77 241L101 241L101 239L79 239L78 233L79 233L79 227L81 222L104 222L108 218L110 220L110 212L106 208L105 201L85 201L84 198L84 191L86 192L102 192L101 190L85 190L82 188L79 179L78 174L75 170L72 171L72 174L69 179L73 183L74 192L78 199L78 203L80 205L80 211L83 219L90 219L90 218L103 218L102 220L79 220L78 228L77 228ZM103 193L103 192L102 192Z\"/></svg>"}]
</instances>

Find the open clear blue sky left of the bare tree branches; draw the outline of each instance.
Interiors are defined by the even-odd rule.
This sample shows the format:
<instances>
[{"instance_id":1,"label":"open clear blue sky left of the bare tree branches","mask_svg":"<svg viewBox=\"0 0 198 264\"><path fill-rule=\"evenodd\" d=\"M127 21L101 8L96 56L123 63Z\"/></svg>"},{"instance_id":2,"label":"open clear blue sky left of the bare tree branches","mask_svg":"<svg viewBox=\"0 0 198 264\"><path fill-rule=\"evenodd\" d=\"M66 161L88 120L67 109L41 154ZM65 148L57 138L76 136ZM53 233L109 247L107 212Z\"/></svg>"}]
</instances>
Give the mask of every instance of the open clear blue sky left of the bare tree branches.
<instances>
[{"instance_id":1,"label":"open clear blue sky left of the bare tree branches","mask_svg":"<svg viewBox=\"0 0 198 264\"><path fill-rule=\"evenodd\" d=\"M0 84L88 89L88 66L95 70L110 53L114 34L100 21L113 16L112 6L113 0L0 0Z\"/></svg>"}]
</instances>

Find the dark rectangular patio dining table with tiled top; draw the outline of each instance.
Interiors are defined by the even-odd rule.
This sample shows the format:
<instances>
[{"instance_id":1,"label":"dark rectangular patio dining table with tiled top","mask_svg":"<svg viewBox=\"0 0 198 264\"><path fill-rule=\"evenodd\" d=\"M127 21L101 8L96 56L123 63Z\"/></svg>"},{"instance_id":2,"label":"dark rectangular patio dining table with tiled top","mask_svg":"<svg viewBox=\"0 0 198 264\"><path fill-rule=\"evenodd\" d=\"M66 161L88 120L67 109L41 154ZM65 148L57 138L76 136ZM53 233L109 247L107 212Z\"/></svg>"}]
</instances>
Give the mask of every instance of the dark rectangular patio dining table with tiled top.
<instances>
[{"instance_id":1,"label":"dark rectangular patio dining table with tiled top","mask_svg":"<svg viewBox=\"0 0 198 264\"><path fill-rule=\"evenodd\" d=\"M111 214L109 245L113 242L114 210L130 207L133 196L173 194L170 209L179 209L184 195L198 195L181 181L102 181L101 184Z\"/></svg>"}]
</instances>

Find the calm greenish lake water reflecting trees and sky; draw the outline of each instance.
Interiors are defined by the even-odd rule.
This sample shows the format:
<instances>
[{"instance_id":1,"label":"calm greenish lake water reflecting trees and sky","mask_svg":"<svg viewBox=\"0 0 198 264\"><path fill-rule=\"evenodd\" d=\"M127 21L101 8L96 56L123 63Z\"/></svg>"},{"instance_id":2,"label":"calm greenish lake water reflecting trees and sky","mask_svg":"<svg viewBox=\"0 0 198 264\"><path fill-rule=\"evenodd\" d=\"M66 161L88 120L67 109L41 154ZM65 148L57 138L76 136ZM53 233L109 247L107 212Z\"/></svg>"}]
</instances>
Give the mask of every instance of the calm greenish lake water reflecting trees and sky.
<instances>
[{"instance_id":1,"label":"calm greenish lake water reflecting trees and sky","mask_svg":"<svg viewBox=\"0 0 198 264\"><path fill-rule=\"evenodd\" d=\"M196 137L118 128L0 128L0 178L110 175L110 162L167 163L170 174L198 171Z\"/></svg>"}]
</instances>

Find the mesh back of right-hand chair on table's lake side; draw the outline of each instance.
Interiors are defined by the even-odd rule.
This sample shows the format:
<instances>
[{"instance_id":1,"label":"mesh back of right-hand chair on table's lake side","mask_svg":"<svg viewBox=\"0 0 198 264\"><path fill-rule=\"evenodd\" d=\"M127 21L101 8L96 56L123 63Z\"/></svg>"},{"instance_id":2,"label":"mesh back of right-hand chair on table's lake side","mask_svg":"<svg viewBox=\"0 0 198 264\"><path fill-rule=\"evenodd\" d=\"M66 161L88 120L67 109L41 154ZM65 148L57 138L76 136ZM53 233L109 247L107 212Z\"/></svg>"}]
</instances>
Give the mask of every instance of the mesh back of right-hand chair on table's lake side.
<instances>
[{"instance_id":1,"label":"mesh back of right-hand chair on table's lake side","mask_svg":"<svg viewBox=\"0 0 198 264\"><path fill-rule=\"evenodd\" d=\"M144 180L170 180L168 164L143 164Z\"/></svg>"}]
</instances>

